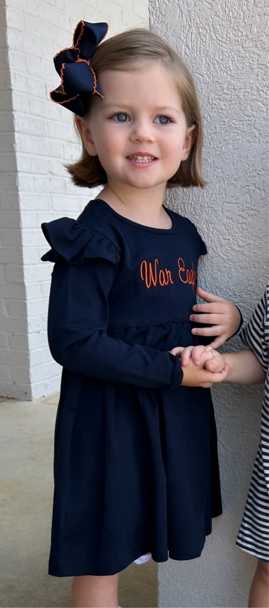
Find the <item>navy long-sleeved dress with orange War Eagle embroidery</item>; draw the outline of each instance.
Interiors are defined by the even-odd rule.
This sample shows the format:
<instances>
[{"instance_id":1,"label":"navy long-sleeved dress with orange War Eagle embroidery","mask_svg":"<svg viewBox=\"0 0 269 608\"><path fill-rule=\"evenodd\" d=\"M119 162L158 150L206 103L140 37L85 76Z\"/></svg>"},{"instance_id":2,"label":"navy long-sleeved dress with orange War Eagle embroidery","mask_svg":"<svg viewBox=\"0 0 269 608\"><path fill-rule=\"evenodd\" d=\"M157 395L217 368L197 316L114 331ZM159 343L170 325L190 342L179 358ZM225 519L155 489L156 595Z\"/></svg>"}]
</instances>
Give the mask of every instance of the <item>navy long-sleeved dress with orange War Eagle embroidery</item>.
<instances>
[{"instance_id":1,"label":"navy long-sleeved dress with orange War Eagle embroidery","mask_svg":"<svg viewBox=\"0 0 269 608\"><path fill-rule=\"evenodd\" d=\"M63 366L49 572L112 575L144 553L197 558L221 513L208 389L168 351L200 342L189 315L196 227L141 226L104 201L43 224L55 262L49 345Z\"/></svg>"}]
</instances>

